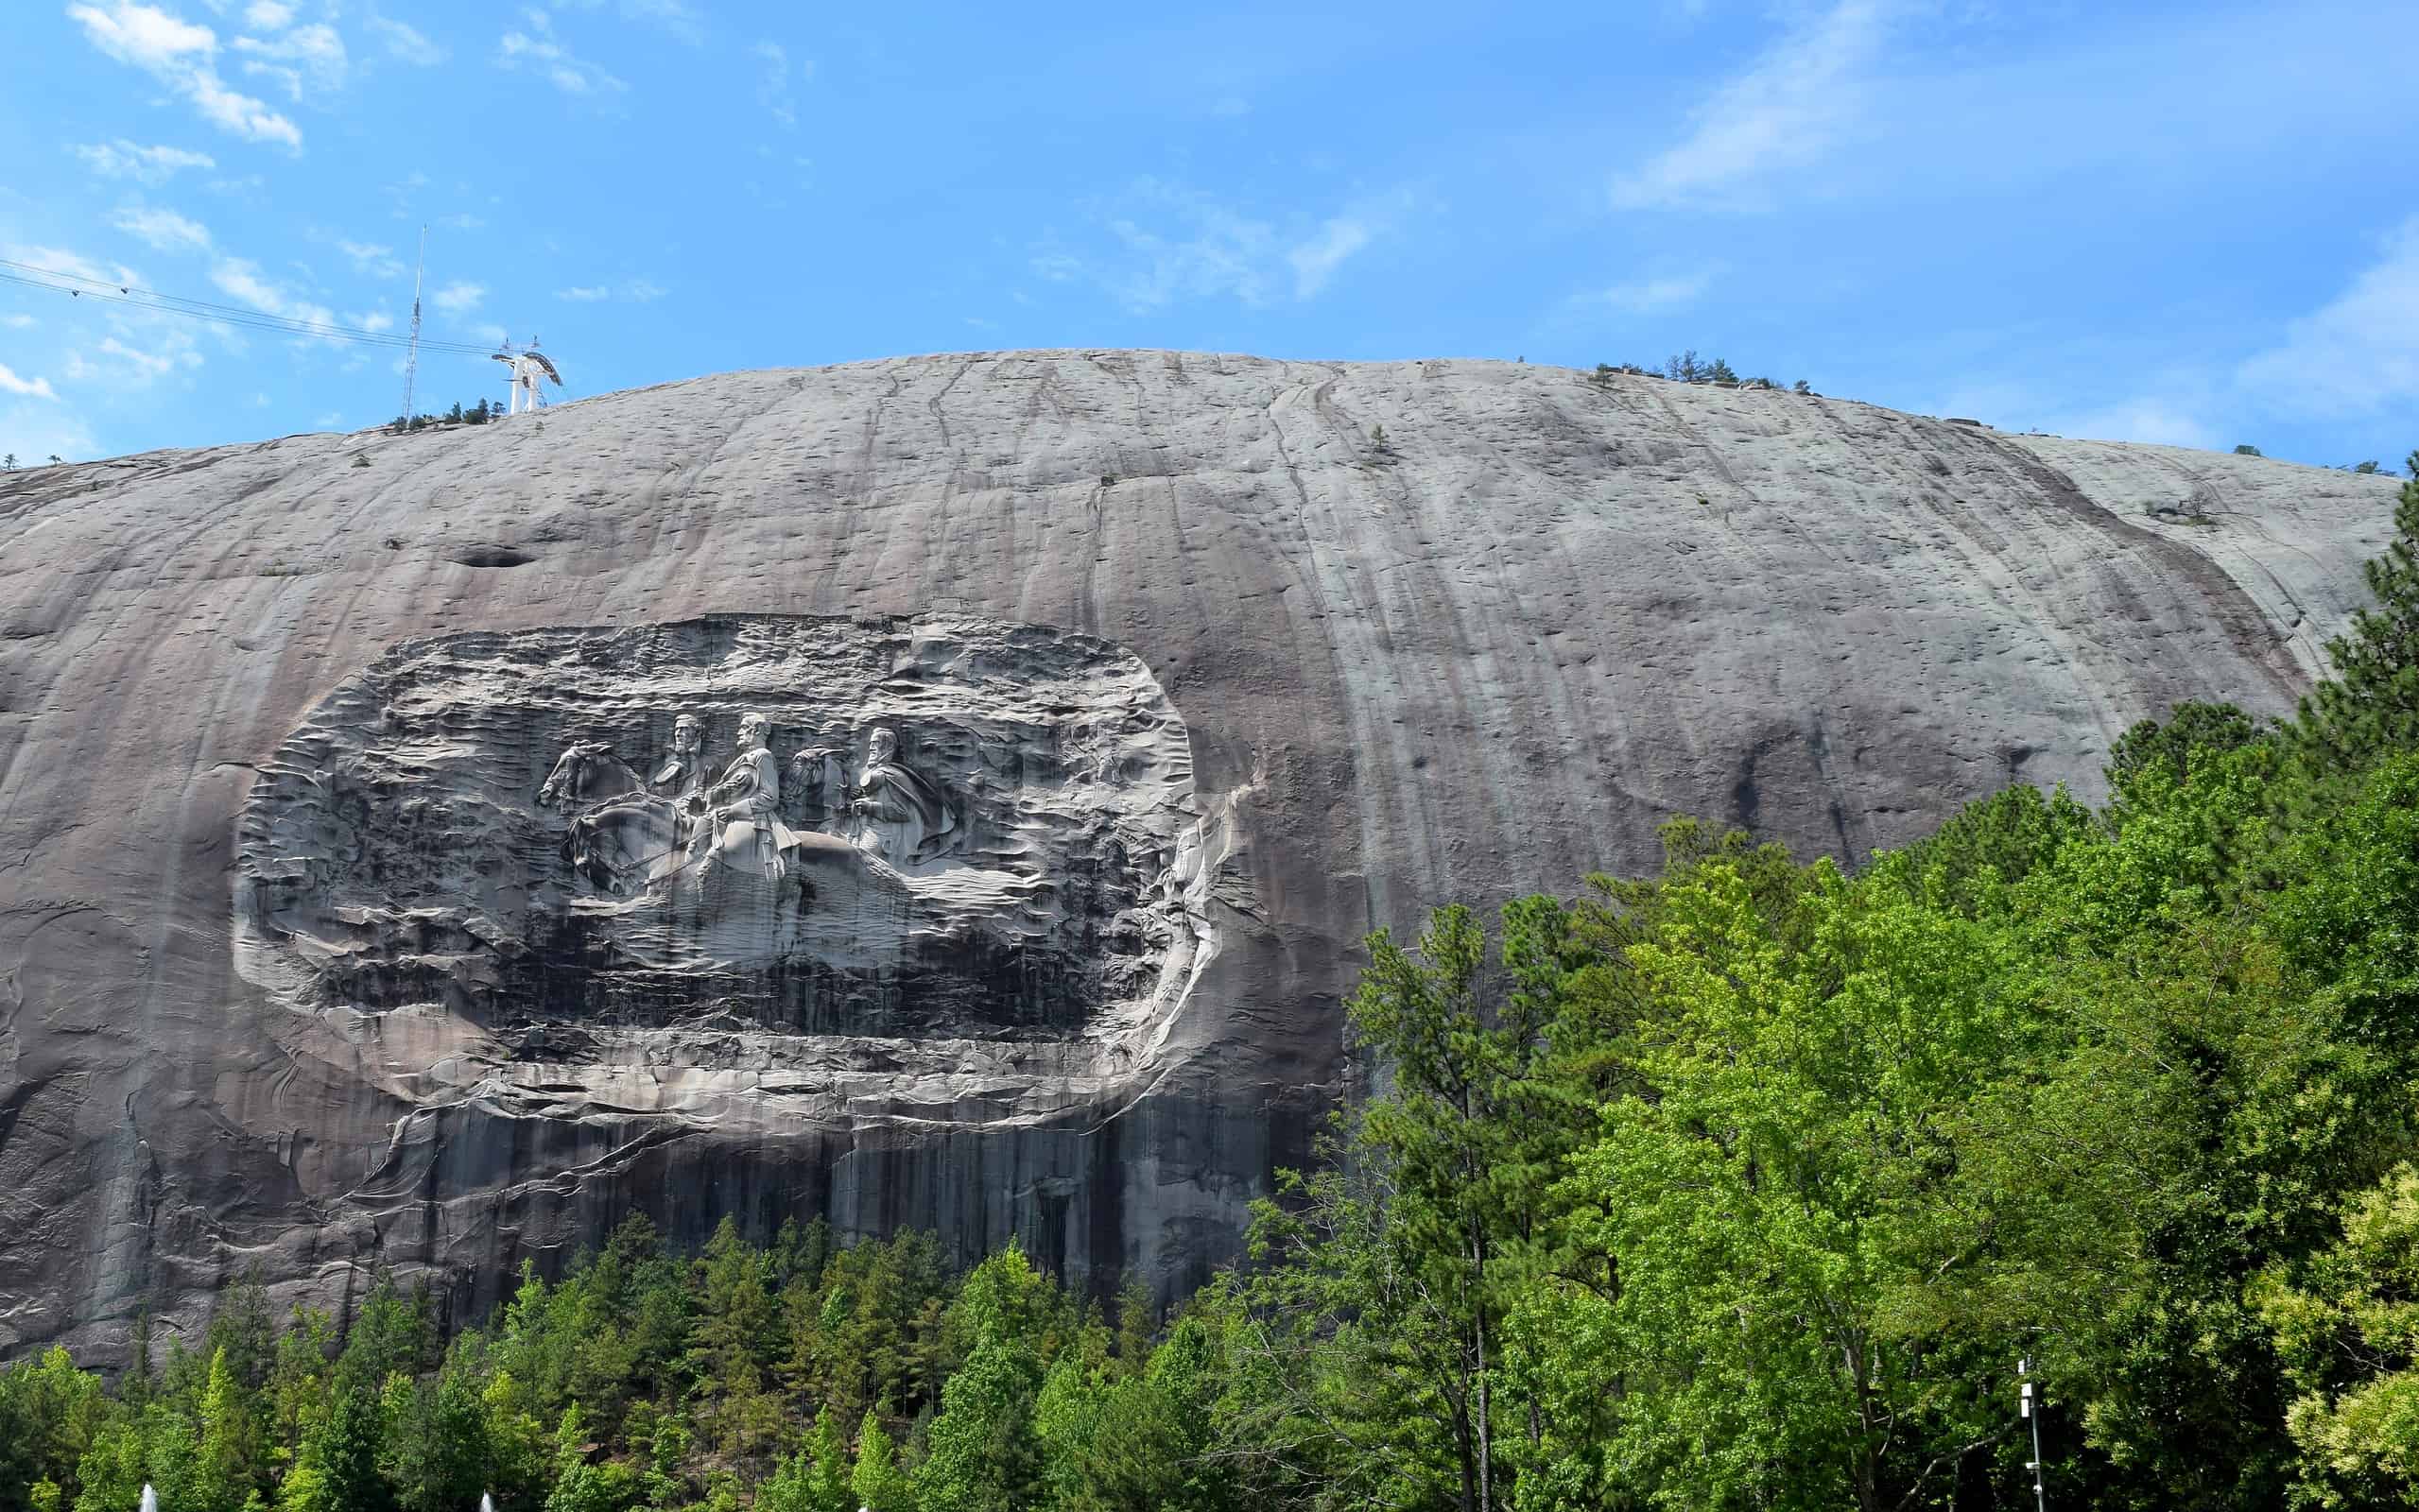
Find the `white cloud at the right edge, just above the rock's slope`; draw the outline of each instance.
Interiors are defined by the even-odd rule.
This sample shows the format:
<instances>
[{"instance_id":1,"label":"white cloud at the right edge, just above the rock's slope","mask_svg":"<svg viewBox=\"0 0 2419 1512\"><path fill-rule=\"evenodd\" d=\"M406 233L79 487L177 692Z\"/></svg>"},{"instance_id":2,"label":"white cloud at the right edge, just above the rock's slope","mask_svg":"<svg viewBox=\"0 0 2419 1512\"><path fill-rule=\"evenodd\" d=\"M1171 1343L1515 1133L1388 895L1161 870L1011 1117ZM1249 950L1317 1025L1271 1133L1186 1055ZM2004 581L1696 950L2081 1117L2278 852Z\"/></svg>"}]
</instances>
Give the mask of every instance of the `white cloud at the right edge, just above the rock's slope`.
<instances>
[{"instance_id":1,"label":"white cloud at the right edge, just above the rock's slope","mask_svg":"<svg viewBox=\"0 0 2419 1512\"><path fill-rule=\"evenodd\" d=\"M2286 414L2356 414L2419 402L2419 215L2385 235L2351 288L2286 327L2235 382Z\"/></svg>"}]
</instances>

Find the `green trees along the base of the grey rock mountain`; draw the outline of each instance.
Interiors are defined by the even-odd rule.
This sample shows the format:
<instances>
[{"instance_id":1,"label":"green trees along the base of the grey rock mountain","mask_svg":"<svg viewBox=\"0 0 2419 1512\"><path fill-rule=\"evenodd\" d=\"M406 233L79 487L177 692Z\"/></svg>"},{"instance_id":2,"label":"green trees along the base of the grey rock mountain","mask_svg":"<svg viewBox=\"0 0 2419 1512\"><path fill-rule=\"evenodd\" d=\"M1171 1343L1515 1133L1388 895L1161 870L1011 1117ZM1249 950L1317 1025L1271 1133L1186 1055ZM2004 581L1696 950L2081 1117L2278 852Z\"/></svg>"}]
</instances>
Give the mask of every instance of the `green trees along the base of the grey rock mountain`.
<instances>
[{"instance_id":1,"label":"green trees along the base of the grey rock mountain","mask_svg":"<svg viewBox=\"0 0 2419 1512\"><path fill-rule=\"evenodd\" d=\"M1384 1091L1176 1309L643 1222L443 1338L225 1292L0 1372L0 1507L2409 1507L2419 481L2291 721L2182 706L1860 873L1369 941ZM2017 1418L2017 1360L2042 1393Z\"/></svg>"}]
</instances>

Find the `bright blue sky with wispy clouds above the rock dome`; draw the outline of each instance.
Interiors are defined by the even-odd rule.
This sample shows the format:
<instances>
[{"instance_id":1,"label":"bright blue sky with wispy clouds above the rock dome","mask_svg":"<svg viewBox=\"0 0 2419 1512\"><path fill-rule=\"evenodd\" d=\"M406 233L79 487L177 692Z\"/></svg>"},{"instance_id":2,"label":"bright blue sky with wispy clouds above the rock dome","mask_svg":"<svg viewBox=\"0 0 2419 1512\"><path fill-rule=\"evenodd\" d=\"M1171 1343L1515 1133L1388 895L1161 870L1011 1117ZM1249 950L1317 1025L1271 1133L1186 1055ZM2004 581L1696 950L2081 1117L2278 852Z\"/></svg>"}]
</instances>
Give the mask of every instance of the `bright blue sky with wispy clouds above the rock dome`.
<instances>
[{"instance_id":1,"label":"bright blue sky with wispy clouds above the rock dome","mask_svg":"<svg viewBox=\"0 0 2419 1512\"><path fill-rule=\"evenodd\" d=\"M542 336L568 394L914 351L1679 348L2061 435L2419 445L2419 5L10 0L0 259ZM0 269L5 271L5 269ZM421 358L421 409L503 368ZM0 450L402 402L0 283Z\"/></svg>"}]
</instances>

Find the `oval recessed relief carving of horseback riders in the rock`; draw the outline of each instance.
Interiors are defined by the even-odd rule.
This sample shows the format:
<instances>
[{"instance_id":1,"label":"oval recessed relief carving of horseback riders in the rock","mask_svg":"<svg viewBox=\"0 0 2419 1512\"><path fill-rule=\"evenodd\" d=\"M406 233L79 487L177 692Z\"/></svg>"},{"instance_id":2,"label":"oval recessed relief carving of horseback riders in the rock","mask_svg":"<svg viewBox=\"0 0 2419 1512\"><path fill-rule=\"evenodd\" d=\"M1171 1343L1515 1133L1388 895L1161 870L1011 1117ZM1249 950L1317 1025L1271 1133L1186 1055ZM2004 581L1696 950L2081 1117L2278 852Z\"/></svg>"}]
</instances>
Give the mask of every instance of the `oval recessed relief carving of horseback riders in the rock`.
<instances>
[{"instance_id":1,"label":"oval recessed relief carving of horseback riders in the rock","mask_svg":"<svg viewBox=\"0 0 2419 1512\"><path fill-rule=\"evenodd\" d=\"M460 634L397 646L261 769L237 965L356 1035L435 1016L503 1064L1122 1060L1207 958L1200 839L1183 719L1093 636Z\"/></svg>"}]
</instances>

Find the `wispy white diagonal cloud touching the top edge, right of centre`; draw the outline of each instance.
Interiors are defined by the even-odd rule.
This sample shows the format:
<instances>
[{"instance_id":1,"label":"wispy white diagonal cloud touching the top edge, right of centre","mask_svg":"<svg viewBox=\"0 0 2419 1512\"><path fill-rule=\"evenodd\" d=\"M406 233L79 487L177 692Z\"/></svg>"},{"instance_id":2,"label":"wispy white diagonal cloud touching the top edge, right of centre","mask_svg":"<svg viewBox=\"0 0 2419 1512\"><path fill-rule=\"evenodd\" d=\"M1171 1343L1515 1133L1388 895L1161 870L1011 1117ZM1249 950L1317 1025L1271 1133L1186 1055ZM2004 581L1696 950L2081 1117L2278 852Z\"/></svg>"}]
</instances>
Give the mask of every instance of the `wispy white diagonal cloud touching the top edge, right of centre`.
<instances>
[{"instance_id":1,"label":"wispy white diagonal cloud touching the top edge, right of centre","mask_svg":"<svg viewBox=\"0 0 2419 1512\"><path fill-rule=\"evenodd\" d=\"M1613 206L1749 208L1783 169L1822 160L1853 131L1865 68L1896 19L1894 0L1841 0L1783 39L1693 111L1686 140L1613 179Z\"/></svg>"}]
</instances>

